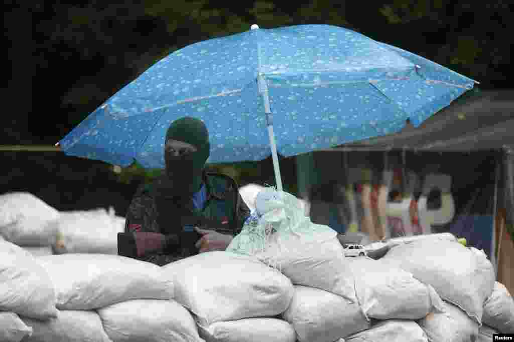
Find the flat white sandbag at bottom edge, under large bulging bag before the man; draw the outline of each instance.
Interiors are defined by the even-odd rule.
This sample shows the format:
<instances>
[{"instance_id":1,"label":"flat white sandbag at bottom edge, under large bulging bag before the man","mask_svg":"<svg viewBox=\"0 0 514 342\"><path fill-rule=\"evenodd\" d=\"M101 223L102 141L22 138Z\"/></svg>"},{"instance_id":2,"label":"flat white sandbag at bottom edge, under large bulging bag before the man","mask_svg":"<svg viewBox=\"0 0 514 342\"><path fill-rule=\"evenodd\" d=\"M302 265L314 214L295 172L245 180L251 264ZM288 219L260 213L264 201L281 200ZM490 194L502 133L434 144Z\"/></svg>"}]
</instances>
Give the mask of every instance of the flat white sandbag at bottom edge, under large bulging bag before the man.
<instances>
[{"instance_id":1,"label":"flat white sandbag at bottom edge, under large bulging bag before the man","mask_svg":"<svg viewBox=\"0 0 514 342\"><path fill-rule=\"evenodd\" d=\"M296 342L295 330L277 318L245 318L198 327L207 342Z\"/></svg>"}]
</instances>

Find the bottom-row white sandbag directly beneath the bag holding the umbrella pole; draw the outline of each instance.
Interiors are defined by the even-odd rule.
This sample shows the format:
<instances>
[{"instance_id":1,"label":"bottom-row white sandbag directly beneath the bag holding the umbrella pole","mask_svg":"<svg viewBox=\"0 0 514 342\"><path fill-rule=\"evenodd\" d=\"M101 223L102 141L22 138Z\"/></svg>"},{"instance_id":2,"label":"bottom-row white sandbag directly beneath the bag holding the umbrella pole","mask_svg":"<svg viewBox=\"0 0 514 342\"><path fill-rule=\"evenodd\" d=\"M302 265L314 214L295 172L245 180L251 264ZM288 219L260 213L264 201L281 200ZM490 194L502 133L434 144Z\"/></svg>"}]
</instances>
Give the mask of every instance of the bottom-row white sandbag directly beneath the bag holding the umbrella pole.
<instances>
[{"instance_id":1,"label":"bottom-row white sandbag directly beneath the bag holding the umbrella pole","mask_svg":"<svg viewBox=\"0 0 514 342\"><path fill-rule=\"evenodd\" d=\"M371 327L357 303L306 286L295 286L283 318L295 328L301 342L333 342Z\"/></svg>"}]
</instances>

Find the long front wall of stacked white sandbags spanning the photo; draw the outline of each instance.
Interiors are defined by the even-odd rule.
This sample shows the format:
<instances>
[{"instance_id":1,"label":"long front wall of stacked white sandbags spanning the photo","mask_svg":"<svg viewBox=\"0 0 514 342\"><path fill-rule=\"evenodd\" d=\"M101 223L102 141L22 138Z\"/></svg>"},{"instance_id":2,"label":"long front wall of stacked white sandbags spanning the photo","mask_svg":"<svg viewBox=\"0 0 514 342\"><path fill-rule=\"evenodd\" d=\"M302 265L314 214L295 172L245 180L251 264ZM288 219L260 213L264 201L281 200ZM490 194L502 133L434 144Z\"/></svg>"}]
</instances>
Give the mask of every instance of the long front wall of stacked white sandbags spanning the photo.
<instances>
[{"instance_id":1,"label":"long front wall of stacked white sandbags spanning the photo","mask_svg":"<svg viewBox=\"0 0 514 342\"><path fill-rule=\"evenodd\" d=\"M274 234L255 255L209 252L164 267L77 250L34 256L0 241L0 340L467 342L514 333L514 301L482 251L427 239L379 260L350 258L334 231L300 216L293 236ZM43 220L20 217L11 222ZM4 237L21 238L9 227Z\"/></svg>"}]
</instances>

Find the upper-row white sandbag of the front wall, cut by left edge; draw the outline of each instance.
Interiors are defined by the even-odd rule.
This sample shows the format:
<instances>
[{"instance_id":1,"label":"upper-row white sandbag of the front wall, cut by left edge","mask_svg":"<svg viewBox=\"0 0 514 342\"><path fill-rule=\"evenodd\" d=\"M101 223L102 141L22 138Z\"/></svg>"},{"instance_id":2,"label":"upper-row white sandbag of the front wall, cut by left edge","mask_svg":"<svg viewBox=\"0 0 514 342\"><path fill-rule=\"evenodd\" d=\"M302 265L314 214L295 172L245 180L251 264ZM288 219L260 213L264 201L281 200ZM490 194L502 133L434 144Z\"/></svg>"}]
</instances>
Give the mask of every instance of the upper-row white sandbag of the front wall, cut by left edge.
<instances>
[{"instance_id":1,"label":"upper-row white sandbag of the front wall, cut by left edge","mask_svg":"<svg viewBox=\"0 0 514 342\"><path fill-rule=\"evenodd\" d=\"M56 291L47 271L21 247L0 241L0 311L57 317Z\"/></svg>"}]
</instances>

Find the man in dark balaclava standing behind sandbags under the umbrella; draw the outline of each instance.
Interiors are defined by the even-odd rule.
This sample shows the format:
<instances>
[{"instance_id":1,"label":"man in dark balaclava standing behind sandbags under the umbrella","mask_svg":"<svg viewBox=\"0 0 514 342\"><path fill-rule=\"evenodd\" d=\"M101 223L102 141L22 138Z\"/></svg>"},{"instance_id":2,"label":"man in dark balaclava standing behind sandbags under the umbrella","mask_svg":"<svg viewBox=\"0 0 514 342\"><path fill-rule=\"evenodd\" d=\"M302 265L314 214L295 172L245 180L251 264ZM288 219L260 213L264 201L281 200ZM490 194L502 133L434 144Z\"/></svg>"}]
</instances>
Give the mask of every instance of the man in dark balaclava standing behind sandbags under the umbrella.
<instances>
[{"instance_id":1,"label":"man in dark balaclava standing behind sandbags under the umbrella","mask_svg":"<svg viewBox=\"0 0 514 342\"><path fill-rule=\"evenodd\" d=\"M125 233L118 234L118 254L162 266L226 249L250 210L232 178L204 171L209 154L201 120L182 117L170 125L164 174L134 195Z\"/></svg>"}]
</instances>

